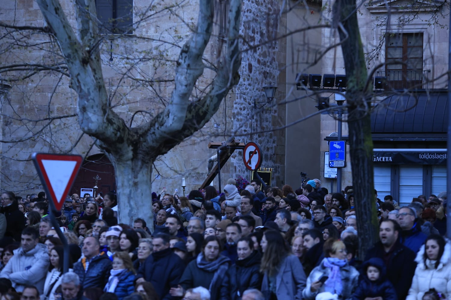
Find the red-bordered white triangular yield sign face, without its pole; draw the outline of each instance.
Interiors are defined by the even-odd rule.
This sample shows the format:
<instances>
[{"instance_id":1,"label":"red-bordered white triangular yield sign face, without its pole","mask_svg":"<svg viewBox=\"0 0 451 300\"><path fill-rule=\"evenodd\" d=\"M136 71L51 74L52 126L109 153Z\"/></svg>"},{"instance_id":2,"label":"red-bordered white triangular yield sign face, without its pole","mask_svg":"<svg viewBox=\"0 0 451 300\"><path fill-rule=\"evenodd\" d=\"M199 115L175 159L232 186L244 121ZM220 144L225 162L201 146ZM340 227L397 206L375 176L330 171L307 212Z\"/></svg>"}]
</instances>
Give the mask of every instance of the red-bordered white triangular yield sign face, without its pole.
<instances>
[{"instance_id":1,"label":"red-bordered white triangular yield sign face, without its pole","mask_svg":"<svg viewBox=\"0 0 451 300\"><path fill-rule=\"evenodd\" d=\"M33 153L34 166L46 189L47 197L61 210L64 200L74 184L83 161L80 155Z\"/></svg>"}]
</instances>

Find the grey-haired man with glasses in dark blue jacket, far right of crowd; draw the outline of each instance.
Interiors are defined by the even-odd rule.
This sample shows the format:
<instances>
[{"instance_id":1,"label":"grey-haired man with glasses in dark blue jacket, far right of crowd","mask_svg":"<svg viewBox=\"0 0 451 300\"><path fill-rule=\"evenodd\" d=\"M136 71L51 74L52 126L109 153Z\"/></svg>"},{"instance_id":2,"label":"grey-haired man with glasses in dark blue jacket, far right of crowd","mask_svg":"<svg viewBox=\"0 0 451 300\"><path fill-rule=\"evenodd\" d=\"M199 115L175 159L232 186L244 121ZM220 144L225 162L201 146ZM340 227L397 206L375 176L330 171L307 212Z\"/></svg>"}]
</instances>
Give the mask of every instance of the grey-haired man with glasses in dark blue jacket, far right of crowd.
<instances>
[{"instance_id":1,"label":"grey-haired man with glasses in dark blue jacket, far right of crowd","mask_svg":"<svg viewBox=\"0 0 451 300\"><path fill-rule=\"evenodd\" d=\"M403 206L399 209L396 217L402 228L401 243L417 253L427 236L421 231L421 226L417 223L416 210L408 206Z\"/></svg>"}]
</instances>

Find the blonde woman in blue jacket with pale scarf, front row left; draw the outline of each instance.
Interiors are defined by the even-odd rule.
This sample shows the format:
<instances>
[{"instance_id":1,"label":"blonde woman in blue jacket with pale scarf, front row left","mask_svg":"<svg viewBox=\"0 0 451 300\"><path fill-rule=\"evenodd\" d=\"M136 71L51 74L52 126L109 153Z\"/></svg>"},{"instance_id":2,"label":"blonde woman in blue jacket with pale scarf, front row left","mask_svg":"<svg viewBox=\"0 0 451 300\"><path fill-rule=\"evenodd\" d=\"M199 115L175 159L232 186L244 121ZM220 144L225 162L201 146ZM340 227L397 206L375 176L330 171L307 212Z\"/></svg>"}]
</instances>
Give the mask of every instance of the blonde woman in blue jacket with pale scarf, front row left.
<instances>
[{"instance_id":1,"label":"blonde woman in blue jacket with pale scarf, front row left","mask_svg":"<svg viewBox=\"0 0 451 300\"><path fill-rule=\"evenodd\" d=\"M103 291L115 293L119 300L129 296L134 291L136 272L133 263L126 251L116 252L113 255L113 269Z\"/></svg>"}]
</instances>

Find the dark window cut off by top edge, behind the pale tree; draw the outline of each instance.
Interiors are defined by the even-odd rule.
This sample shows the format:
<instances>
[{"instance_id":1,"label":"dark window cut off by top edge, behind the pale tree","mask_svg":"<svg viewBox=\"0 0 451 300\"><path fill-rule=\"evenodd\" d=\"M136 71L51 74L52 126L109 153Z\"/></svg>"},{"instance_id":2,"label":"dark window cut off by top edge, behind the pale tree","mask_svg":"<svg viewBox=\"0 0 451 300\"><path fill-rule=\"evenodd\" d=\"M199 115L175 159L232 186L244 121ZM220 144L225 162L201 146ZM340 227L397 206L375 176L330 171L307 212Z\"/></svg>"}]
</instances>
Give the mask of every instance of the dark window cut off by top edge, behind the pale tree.
<instances>
[{"instance_id":1,"label":"dark window cut off by top edge, behind the pale tree","mask_svg":"<svg viewBox=\"0 0 451 300\"><path fill-rule=\"evenodd\" d=\"M133 33L133 0L96 0L99 32Z\"/></svg>"}]
</instances>

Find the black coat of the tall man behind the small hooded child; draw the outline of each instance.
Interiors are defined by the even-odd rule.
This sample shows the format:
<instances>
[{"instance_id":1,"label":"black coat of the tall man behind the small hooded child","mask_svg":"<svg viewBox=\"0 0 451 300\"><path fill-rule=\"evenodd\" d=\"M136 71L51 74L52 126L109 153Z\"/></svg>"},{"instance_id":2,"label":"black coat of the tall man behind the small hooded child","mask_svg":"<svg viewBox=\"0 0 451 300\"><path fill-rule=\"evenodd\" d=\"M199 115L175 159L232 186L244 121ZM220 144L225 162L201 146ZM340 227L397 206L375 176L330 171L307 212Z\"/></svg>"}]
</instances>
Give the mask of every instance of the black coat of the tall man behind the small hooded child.
<instances>
[{"instance_id":1,"label":"black coat of the tall man behind the small hooded child","mask_svg":"<svg viewBox=\"0 0 451 300\"><path fill-rule=\"evenodd\" d=\"M387 259L386 253L381 242L377 242L373 248L369 249L365 260L372 257L378 257L382 260ZM399 241L393 246L393 251L385 262L387 268L387 279L393 284L396 290L398 299L405 299L409 293L412 278L414 277L415 268L415 253Z\"/></svg>"}]
</instances>

